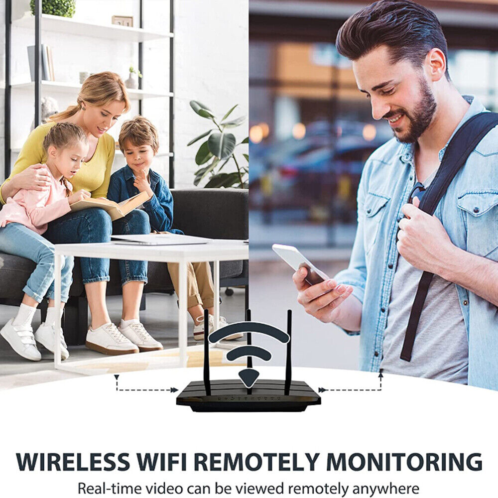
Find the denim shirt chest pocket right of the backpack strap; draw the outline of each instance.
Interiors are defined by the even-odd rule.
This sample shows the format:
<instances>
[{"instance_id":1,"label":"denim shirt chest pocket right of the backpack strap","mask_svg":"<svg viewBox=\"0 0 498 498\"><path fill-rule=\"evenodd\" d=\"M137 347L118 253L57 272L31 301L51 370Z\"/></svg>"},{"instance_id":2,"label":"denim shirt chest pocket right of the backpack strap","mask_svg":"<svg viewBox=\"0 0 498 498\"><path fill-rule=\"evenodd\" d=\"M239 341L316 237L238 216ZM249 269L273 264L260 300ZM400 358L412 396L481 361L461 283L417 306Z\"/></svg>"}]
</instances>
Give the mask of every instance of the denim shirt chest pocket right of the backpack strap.
<instances>
[{"instance_id":1,"label":"denim shirt chest pocket right of the backpack strap","mask_svg":"<svg viewBox=\"0 0 498 498\"><path fill-rule=\"evenodd\" d=\"M498 190L466 192L457 204L467 230L467 250L498 260Z\"/></svg>"}]
</instances>

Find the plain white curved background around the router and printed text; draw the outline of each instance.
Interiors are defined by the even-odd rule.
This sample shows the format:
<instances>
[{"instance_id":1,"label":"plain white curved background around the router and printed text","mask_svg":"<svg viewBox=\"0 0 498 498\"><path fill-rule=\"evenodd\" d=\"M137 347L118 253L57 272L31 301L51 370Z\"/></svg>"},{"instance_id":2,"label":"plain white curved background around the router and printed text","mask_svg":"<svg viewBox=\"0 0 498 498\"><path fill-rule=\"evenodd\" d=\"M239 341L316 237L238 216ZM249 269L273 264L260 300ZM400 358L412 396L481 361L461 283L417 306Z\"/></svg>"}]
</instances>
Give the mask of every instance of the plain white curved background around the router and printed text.
<instances>
[{"instance_id":1,"label":"plain white curved background around the router and printed text","mask_svg":"<svg viewBox=\"0 0 498 498\"><path fill-rule=\"evenodd\" d=\"M261 368L262 378L283 369ZM212 369L212 378L237 377L237 368ZM124 373L120 387L183 389L200 369ZM315 390L376 388L375 373L295 369ZM116 392L113 375L48 382L0 393L0 496L76 497L77 483L99 484L411 484L421 497L496 496L498 393L385 375L382 391L325 392L321 406L302 413L194 413L169 392ZM127 472L19 472L16 452L130 453ZM139 472L136 452L289 452L351 454L482 453L481 472ZM404 467L406 469L406 467ZM82 496L82 495L80 495ZM353 495L347 495L353 496ZM358 495L357 495L358 496ZM364 495L365 496L365 495ZM377 495L378 496L378 495ZM384 495L385 496L385 495Z\"/></svg>"}]
</instances>

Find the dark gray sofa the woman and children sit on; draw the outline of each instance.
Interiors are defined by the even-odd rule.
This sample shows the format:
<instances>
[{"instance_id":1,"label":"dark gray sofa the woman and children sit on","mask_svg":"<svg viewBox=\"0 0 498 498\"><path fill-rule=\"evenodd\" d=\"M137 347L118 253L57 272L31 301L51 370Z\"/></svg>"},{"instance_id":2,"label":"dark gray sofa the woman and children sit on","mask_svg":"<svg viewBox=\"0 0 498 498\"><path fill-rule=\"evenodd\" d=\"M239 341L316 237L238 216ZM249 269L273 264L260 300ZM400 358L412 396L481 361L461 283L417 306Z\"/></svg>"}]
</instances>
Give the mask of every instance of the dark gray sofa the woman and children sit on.
<instances>
[{"instance_id":1,"label":"dark gray sofa the woman and children sit on","mask_svg":"<svg viewBox=\"0 0 498 498\"><path fill-rule=\"evenodd\" d=\"M187 235L212 239L248 239L249 212L248 191L241 189L182 189L172 190L174 199L174 227ZM0 252L0 304L18 306L22 288L34 269L34 263L23 257ZM165 263L149 261L148 283L144 292L174 292ZM118 261L112 260L111 281L107 295L121 294L121 277ZM222 261L220 286L243 285L248 300L248 261ZM85 344L88 329L88 303L81 280L79 261L73 270L70 298L63 316L63 328L69 345ZM46 306L46 304L45 304ZM42 317L45 314L43 305ZM145 307L145 295L141 309Z\"/></svg>"}]
</instances>

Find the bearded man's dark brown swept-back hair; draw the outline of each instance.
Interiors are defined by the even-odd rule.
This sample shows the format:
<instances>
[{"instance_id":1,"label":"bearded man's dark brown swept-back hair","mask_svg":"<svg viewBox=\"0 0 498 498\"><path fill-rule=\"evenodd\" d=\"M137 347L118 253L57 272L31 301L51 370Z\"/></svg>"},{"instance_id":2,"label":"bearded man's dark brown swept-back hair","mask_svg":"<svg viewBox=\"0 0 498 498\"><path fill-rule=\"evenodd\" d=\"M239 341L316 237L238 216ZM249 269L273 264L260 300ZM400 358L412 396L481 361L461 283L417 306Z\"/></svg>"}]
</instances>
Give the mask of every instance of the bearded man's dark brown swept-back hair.
<instances>
[{"instance_id":1,"label":"bearded man's dark brown swept-back hair","mask_svg":"<svg viewBox=\"0 0 498 498\"><path fill-rule=\"evenodd\" d=\"M446 59L448 45L438 18L428 8L409 0L380 0L353 14L339 29L337 51L356 61L374 48L387 45L391 63L407 59L422 66L427 53L439 48Z\"/></svg>"}]
</instances>

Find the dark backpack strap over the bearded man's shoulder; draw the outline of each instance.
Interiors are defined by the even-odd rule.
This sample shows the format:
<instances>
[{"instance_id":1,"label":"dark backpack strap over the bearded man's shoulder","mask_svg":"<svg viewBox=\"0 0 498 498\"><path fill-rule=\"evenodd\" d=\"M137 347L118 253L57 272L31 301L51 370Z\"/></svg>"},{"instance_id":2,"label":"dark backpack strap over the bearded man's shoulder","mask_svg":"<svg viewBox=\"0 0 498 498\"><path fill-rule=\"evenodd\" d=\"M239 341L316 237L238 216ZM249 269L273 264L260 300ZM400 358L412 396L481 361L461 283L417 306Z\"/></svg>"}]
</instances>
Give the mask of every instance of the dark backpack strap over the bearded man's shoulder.
<instances>
[{"instance_id":1,"label":"dark backpack strap over the bearded man's shoulder","mask_svg":"<svg viewBox=\"0 0 498 498\"><path fill-rule=\"evenodd\" d=\"M462 124L446 147L436 176L425 191L419 209L430 215L434 214L446 189L460 168L466 163L471 152L496 125L498 125L498 114L488 112L477 114ZM424 271L418 283L400 355L401 360L406 362L411 360L418 322L433 276L434 273Z\"/></svg>"}]
</instances>

